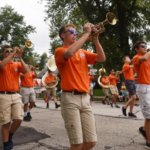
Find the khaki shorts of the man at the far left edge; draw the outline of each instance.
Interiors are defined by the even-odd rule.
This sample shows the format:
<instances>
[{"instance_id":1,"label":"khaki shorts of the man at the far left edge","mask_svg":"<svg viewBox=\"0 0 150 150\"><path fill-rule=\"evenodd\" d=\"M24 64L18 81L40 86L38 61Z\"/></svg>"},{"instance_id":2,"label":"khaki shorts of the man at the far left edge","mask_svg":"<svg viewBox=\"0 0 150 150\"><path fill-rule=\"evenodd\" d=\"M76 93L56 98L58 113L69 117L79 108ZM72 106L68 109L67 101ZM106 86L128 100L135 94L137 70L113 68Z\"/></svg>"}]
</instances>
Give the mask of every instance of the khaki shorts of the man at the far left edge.
<instances>
[{"instance_id":1,"label":"khaki shorts of the man at the far left edge","mask_svg":"<svg viewBox=\"0 0 150 150\"><path fill-rule=\"evenodd\" d=\"M13 119L23 119L23 104L20 94L0 94L0 123L11 122Z\"/></svg>"}]
</instances>

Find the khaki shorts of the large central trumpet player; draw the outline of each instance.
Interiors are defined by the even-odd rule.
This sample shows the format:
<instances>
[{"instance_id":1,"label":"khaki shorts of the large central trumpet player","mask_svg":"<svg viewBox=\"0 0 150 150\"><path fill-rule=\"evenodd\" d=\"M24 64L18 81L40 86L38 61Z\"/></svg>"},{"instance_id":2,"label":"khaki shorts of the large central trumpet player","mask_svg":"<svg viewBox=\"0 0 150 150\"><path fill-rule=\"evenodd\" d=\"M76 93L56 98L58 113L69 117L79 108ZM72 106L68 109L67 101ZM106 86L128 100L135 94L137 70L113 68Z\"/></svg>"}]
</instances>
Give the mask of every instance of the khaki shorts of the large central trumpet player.
<instances>
[{"instance_id":1,"label":"khaki shorts of the large central trumpet player","mask_svg":"<svg viewBox=\"0 0 150 150\"><path fill-rule=\"evenodd\" d=\"M61 114L72 145L97 141L89 94L74 95L62 92Z\"/></svg>"}]
</instances>

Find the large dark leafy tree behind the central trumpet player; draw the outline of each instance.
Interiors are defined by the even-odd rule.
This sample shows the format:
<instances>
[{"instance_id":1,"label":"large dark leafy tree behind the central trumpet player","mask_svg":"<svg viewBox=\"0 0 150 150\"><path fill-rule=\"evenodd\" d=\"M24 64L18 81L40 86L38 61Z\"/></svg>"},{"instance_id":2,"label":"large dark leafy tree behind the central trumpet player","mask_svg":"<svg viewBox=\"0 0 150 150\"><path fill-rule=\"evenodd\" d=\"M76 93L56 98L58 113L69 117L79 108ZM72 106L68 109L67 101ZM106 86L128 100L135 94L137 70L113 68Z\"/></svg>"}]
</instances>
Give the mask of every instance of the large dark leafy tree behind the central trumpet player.
<instances>
[{"instance_id":1,"label":"large dark leafy tree behind the central trumpet player","mask_svg":"<svg viewBox=\"0 0 150 150\"><path fill-rule=\"evenodd\" d=\"M106 19L108 12L116 15L117 24L106 25L106 31L99 37L106 53L107 60L103 64L107 70L111 68L121 70L122 58L125 55L132 57L134 54L132 43L137 40L150 41L148 0L47 0L46 7L46 20L49 19L51 24L52 51L61 44L56 34L58 35L58 29L63 24L73 23L78 25L78 30L81 31L87 20L97 24ZM92 45L91 42L88 44ZM101 63L96 67L100 68Z\"/></svg>"}]
</instances>

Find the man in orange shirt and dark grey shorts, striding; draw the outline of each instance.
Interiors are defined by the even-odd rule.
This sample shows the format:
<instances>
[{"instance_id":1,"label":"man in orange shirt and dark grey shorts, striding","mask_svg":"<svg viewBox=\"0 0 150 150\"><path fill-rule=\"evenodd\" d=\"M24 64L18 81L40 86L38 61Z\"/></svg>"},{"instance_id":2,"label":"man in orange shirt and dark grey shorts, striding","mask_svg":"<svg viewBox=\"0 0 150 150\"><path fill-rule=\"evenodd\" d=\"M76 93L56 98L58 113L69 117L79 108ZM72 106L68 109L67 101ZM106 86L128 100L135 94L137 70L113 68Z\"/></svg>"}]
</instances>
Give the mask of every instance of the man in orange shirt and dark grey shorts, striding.
<instances>
[{"instance_id":1,"label":"man in orange shirt and dark grey shorts, striding","mask_svg":"<svg viewBox=\"0 0 150 150\"><path fill-rule=\"evenodd\" d=\"M122 107L122 113L124 116L127 116L126 109L128 108L128 106L130 106L130 111L128 113L128 116L136 118L136 115L133 114L134 102L136 100L133 65L130 65L131 60L130 60L129 56L125 56L123 58L123 62L124 62L124 65L122 67L122 70L123 70L123 74L124 74L124 78L125 78L125 85L129 92L130 99L128 100L126 105Z\"/></svg>"}]
</instances>

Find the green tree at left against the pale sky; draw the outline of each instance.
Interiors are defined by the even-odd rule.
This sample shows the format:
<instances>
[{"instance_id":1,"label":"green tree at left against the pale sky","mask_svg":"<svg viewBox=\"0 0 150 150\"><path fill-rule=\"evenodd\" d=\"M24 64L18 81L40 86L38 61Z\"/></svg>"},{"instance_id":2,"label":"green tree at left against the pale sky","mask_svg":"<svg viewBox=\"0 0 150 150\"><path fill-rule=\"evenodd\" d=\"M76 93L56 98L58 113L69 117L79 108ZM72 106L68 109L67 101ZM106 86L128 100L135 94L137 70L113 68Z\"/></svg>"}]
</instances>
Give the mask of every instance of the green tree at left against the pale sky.
<instances>
[{"instance_id":1,"label":"green tree at left against the pale sky","mask_svg":"<svg viewBox=\"0 0 150 150\"><path fill-rule=\"evenodd\" d=\"M6 5L0 8L0 46L4 44L10 44L12 47L24 46L29 40L28 35L33 32L35 28L26 25L24 16L18 14L11 6ZM30 61L30 56L33 56L33 48L26 48L22 56L25 62ZM2 59L1 54L0 59Z\"/></svg>"}]
</instances>

